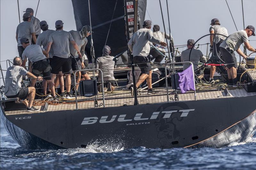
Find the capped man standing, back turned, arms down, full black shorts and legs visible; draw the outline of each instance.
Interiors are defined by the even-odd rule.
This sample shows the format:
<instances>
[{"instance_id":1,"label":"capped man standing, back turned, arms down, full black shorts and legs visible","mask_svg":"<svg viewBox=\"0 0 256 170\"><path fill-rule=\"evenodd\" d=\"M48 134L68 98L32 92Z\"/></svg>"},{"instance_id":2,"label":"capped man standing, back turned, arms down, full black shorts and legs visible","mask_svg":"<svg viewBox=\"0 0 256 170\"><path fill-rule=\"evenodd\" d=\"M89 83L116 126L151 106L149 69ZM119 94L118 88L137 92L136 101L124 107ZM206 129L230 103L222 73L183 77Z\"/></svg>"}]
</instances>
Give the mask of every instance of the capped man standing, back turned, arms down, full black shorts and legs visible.
<instances>
[{"instance_id":1,"label":"capped man standing, back turned, arms down, full black shorts and legs visible","mask_svg":"<svg viewBox=\"0 0 256 170\"><path fill-rule=\"evenodd\" d=\"M51 62L52 82L54 82L56 74L59 74L60 71L61 72L63 71L63 73L66 76L67 94L65 94L64 92L64 86L61 86L60 87L61 98L75 99L70 94L70 88L71 88L70 73L72 73L72 66L71 66L72 59L69 51L69 43L71 43L74 46L80 58L82 57L82 55L72 35L69 32L63 30L63 22L61 20L56 21L55 27L56 27L56 31L49 36L48 45L46 49L47 53L49 53L51 46L53 48L53 57ZM64 84L63 76L61 76L60 81L62 82L61 84Z\"/></svg>"}]
</instances>

